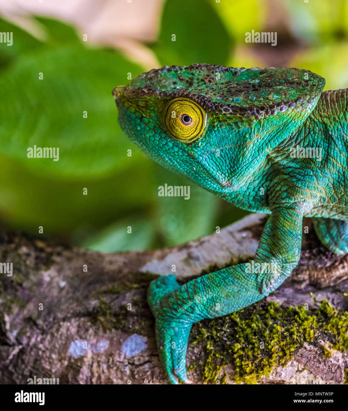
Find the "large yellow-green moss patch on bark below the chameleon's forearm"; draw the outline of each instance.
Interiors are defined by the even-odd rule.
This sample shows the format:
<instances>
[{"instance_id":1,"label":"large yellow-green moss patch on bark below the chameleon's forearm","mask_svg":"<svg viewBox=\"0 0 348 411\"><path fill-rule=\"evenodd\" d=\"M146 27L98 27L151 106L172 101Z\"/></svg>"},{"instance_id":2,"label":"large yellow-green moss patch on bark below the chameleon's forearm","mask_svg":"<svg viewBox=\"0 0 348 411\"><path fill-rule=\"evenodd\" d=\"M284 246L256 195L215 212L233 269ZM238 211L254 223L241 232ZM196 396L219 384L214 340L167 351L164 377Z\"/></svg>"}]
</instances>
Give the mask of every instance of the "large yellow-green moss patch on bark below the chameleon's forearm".
<instances>
[{"instance_id":1,"label":"large yellow-green moss patch on bark below the chameleon's forearm","mask_svg":"<svg viewBox=\"0 0 348 411\"><path fill-rule=\"evenodd\" d=\"M312 343L328 335L330 348L347 351L347 328L348 313L335 309L326 300L312 310L263 301L194 324L191 344L205 344L207 360L202 369L205 382L215 383L223 367L232 363L234 381L255 384L274 367L285 366L304 342ZM330 352L326 351L324 357Z\"/></svg>"}]
</instances>

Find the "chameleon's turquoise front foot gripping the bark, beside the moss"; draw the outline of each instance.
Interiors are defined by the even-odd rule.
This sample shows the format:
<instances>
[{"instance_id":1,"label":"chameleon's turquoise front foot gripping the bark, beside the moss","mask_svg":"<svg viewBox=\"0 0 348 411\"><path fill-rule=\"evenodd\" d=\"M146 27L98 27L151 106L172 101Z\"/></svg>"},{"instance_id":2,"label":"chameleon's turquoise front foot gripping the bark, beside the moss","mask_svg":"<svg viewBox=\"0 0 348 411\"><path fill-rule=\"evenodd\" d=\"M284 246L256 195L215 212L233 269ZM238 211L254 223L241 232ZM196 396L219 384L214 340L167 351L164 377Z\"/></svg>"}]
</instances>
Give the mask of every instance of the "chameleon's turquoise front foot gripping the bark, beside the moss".
<instances>
[{"instance_id":1,"label":"chameleon's turquoise front foot gripping the bark, beside the moss","mask_svg":"<svg viewBox=\"0 0 348 411\"><path fill-rule=\"evenodd\" d=\"M153 280L148 290L148 303L156 319L159 359L172 384L189 383L186 374L186 351L192 323L180 321L166 306L166 299L180 288L173 275Z\"/></svg>"}]
</instances>

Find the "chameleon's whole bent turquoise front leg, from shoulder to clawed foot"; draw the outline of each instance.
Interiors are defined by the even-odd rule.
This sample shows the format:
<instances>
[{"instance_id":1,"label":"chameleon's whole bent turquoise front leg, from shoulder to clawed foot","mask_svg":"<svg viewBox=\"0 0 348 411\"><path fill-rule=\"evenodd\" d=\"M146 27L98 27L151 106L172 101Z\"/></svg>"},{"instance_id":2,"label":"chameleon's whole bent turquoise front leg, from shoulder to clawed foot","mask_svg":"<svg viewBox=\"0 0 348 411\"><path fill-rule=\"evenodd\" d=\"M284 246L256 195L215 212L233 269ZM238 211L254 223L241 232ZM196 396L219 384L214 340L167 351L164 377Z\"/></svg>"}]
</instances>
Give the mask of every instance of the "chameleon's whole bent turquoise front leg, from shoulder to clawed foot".
<instances>
[{"instance_id":1,"label":"chameleon's whole bent turquoise front leg, from shoulder to clawed foot","mask_svg":"<svg viewBox=\"0 0 348 411\"><path fill-rule=\"evenodd\" d=\"M272 210L253 265L224 268L183 286L173 275L151 282L148 303L156 319L159 358L171 383L187 382L186 350L193 323L247 307L290 275L300 258L302 220L303 210L295 207Z\"/></svg>"}]
</instances>

